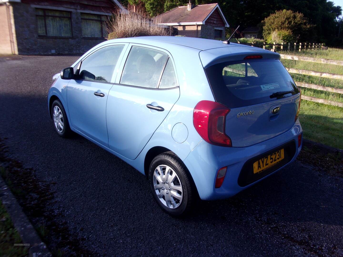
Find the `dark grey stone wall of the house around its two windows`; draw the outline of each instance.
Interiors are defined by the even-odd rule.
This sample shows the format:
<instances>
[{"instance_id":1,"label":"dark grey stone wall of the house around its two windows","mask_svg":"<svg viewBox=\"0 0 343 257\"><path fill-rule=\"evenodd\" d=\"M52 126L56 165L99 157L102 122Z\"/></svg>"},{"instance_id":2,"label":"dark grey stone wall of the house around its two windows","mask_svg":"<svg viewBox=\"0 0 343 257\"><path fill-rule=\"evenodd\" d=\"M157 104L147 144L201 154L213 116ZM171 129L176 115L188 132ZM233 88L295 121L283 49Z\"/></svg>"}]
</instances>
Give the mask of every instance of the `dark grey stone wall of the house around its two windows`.
<instances>
[{"instance_id":1,"label":"dark grey stone wall of the house around its two windows","mask_svg":"<svg viewBox=\"0 0 343 257\"><path fill-rule=\"evenodd\" d=\"M19 54L83 54L105 40L82 38L81 14L76 10L71 11L71 38L38 37L35 7L24 3L12 6Z\"/></svg>"}]
</instances>

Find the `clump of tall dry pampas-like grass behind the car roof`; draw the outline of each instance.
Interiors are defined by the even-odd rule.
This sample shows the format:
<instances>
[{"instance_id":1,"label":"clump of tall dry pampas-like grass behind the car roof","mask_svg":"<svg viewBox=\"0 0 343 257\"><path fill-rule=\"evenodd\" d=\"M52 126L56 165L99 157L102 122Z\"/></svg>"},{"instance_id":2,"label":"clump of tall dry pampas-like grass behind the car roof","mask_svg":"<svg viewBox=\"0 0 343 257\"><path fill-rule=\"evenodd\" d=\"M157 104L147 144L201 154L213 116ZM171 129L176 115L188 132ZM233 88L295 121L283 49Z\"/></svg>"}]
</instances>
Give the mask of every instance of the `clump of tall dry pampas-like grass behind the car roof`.
<instances>
[{"instance_id":1,"label":"clump of tall dry pampas-like grass behind the car roof","mask_svg":"<svg viewBox=\"0 0 343 257\"><path fill-rule=\"evenodd\" d=\"M172 28L164 28L153 23L143 12L129 12L121 15L113 14L113 19L108 22L107 39L140 37L140 36L171 36Z\"/></svg>"}]
</instances>

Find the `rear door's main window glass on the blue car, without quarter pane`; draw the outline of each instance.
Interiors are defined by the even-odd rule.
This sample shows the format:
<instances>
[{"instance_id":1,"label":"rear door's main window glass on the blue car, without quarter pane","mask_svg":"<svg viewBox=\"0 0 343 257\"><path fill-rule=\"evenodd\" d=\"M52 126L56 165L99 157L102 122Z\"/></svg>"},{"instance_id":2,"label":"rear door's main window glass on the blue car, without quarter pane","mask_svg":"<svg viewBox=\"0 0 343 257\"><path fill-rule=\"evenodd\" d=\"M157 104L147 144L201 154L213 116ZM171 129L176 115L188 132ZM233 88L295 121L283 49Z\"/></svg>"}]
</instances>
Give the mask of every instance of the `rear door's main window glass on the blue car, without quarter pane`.
<instances>
[{"instance_id":1,"label":"rear door's main window glass on the blue car, without quarter pane","mask_svg":"<svg viewBox=\"0 0 343 257\"><path fill-rule=\"evenodd\" d=\"M168 59L164 52L133 46L126 60L120 84L157 88Z\"/></svg>"}]
</instances>

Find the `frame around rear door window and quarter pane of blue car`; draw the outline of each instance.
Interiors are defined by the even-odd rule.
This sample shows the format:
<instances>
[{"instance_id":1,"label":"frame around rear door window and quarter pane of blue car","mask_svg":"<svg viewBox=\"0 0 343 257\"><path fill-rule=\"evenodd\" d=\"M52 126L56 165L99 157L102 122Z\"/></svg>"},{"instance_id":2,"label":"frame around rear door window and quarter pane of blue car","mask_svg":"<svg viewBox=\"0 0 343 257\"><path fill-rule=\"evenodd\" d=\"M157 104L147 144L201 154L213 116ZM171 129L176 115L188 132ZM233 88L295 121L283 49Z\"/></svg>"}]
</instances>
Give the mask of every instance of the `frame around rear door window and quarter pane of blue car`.
<instances>
[{"instance_id":1,"label":"frame around rear door window and quarter pane of blue car","mask_svg":"<svg viewBox=\"0 0 343 257\"><path fill-rule=\"evenodd\" d=\"M130 51L132 49L132 47L134 46L137 46L137 47L144 47L144 48L148 48L148 49L152 49L152 50L156 50L156 51L160 51L160 52L163 52L167 55L167 59L163 65L163 69L161 71L161 74L159 75L159 78L158 78L158 84L157 84L157 87L156 88L151 88L151 87L140 87L140 86L134 86L134 85L127 85L127 84L121 84L120 83L120 80L121 80L121 76L123 74L123 71L124 71L124 67L125 67L125 64L127 62L127 59L129 57L129 54L130 54ZM144 45L144 44L134 44L134 43L130 43L128 48L126 49L126 52L125 52L125 56L124 58L125 61L122 61L121 62L121 65L119 67L119 71L118 71L118 74L117 74L117 78L116 78L116 82L114 83L115 85L119 85L119 86L126 86L126 87L136 87L136 88L144 88L144 89L149 89L149 90L169 90L169 89L174 89L174 88L179 88L179 80L178 80L178 77L177 77L177 72L176 72L176 68L175 68L175 63L174 63L174 59L173 57L171 56L171 54L163 49L163 48L159 48L159 47L154 47L154 46L151 46L151 45ZM161 78L162 78L162 75L164 73L164 70L166 68L166 65L168 63L168 60L171 60L171 63L173 64L173 69L174 69L174 74L175 74L175 79L176 79L176 84L177 86L176 87L170 87L170 88L158 88L159 87L159 84L161 82ZM119 76L120 74L120 76Z\"/></svg>"}]
</instances>

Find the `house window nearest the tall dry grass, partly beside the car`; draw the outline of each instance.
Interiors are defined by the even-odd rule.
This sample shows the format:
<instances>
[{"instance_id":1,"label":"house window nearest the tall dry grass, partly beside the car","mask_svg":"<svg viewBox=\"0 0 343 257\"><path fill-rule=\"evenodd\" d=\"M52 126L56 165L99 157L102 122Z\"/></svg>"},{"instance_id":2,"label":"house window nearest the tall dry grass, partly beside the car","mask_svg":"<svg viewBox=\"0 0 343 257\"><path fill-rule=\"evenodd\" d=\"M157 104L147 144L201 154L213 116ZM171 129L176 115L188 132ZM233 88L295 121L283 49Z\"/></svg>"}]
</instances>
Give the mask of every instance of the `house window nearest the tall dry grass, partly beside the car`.
<instances>
[{"instance_id":1,"label":"house window nearest the tall dry grass, partly beside the car","mask_svg":"<svg viewBox=\"0 0 343 257\"><path fill-rule=\"evenodd\" d=\"M107 15L81 13L82 37L104 38L107 36Z\"/></svg>"}]
</instances>

